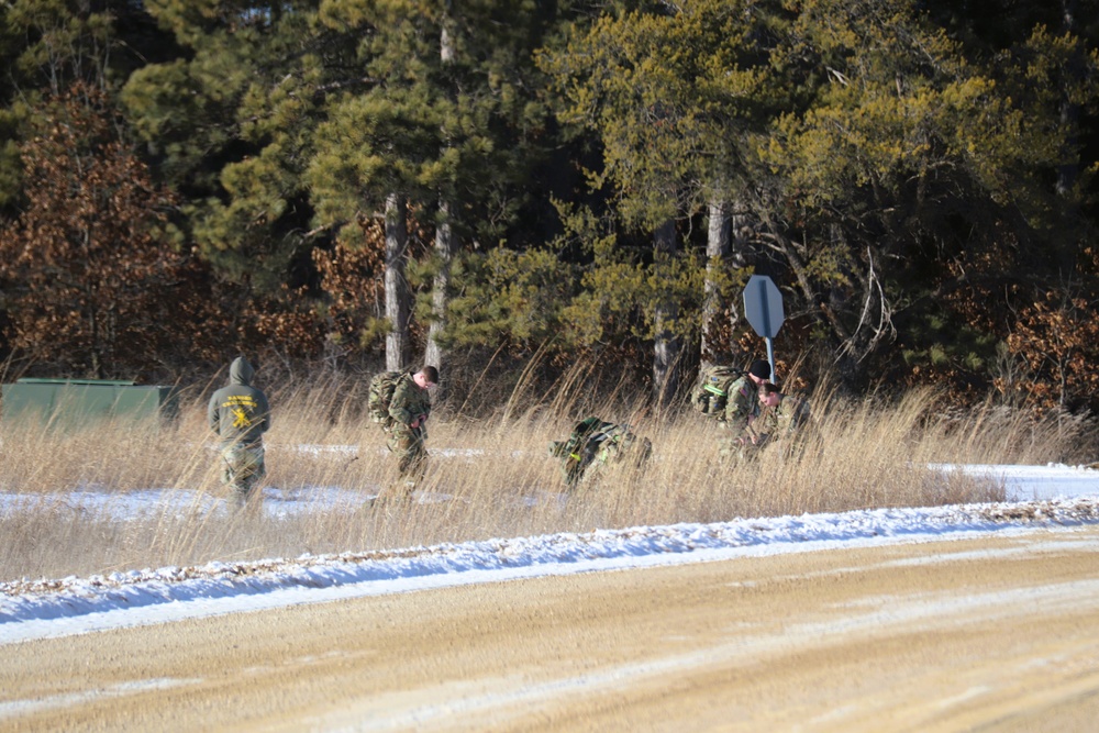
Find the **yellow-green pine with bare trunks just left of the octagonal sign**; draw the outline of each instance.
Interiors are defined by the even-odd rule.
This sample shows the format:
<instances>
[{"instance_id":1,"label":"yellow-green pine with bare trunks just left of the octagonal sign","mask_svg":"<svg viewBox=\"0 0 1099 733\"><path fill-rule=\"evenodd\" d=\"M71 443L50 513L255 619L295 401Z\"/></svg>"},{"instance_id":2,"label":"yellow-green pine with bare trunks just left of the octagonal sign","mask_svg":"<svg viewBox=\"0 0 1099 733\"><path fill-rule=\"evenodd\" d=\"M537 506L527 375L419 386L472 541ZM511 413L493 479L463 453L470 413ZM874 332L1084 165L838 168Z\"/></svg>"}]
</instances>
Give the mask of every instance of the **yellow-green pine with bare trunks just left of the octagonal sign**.
<instances>
[{"instance_id":1,"label":"yellow-green pine with bare trunks just left of the octagonal sign","mask_svg":"<svg viewBox=\"0 0 1099 733\"><path fill-rule=\"evenodd\" d=\"M770 77L784 22L779 3L644 5L577 24L567 42L540 56L562 92L560 119L593 132L601 144L602 167L591 179L613 186L615 211L628 226L654 233L658 278L670 271L660 263L678 249L668 222L701 210L723 216L754 178L753 135L766 129L768 110L781 96ZM724 221L714 221L718 256L708 265L704 292L696 296L708 303L701 332L710 334L719 331L719 280L728 279L721 271L729 265L724 232ZM666 282L665 289L675 286ZM695 335L691 320L674 314L671 303L650 301L660 399L660 385L676 382L670 370L681 362L679 341ZM712 349L707 342L703 358Z\"/></svg>"}]
</instances>

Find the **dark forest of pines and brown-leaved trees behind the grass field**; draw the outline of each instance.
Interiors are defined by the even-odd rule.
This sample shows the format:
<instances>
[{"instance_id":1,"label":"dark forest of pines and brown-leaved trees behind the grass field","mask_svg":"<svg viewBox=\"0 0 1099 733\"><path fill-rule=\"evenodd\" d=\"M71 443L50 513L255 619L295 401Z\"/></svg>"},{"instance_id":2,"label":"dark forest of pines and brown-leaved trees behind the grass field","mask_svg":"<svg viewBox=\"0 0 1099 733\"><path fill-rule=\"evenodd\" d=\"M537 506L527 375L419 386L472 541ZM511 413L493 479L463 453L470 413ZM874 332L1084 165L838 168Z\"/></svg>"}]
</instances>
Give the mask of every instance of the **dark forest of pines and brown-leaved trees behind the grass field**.
<instances>
[{"instance_id":1,"label":"dark forest of pines and brown-leaved trees behind the grass field","mask_svg":"<svg viewBox=\"0 0 1099 733\"><path fill-rule=\"evenodd\" d=\"M3 379L673 404L765 274L780 379L1095 412L1097 47L1095 0L4 0Z\"/></svg>"}]
</instances>

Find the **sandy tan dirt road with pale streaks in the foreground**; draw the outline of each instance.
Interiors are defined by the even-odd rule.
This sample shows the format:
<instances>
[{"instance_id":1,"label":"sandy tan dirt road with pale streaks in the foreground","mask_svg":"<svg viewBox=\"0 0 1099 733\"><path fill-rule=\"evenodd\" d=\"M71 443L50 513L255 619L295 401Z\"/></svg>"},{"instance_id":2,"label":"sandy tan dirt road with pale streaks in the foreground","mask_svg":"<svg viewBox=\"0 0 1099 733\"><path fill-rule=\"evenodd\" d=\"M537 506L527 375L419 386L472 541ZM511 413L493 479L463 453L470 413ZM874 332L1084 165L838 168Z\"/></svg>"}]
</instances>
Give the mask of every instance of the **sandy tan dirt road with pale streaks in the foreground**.
<instances>
[{"instance_id":1,"label":"sandy tan dirt road with pale streaks in the foreground","mask_svg":"<svg viewBox=\"0 0 1099 733\"><path fill-rule=\"evenodd\" d=\"M11 731L1095 731L1099 527L0 646Z\"/></svg>"}]
</instances>

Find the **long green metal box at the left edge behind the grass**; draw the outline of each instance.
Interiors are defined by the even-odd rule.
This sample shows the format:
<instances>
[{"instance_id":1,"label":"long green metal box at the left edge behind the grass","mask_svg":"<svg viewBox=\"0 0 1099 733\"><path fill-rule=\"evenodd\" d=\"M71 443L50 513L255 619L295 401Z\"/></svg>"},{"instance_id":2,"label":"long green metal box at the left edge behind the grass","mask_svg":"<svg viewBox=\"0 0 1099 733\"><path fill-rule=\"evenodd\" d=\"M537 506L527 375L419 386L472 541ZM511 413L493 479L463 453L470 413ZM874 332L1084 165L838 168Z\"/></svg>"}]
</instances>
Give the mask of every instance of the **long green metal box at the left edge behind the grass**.
<instances>
[{"instance_id":1,"label":"long green metal box at the left edge behind the grass","mask_svg":"<svg viewBox=\"0 0 1099 733\"><path fill-rule=\"evenodd\" d=\"M174 420L179 413L175 387L101 379L19 379L3 386L4 421L35 420L62 429L101 420Z\"/></svg>"}]
</instances>

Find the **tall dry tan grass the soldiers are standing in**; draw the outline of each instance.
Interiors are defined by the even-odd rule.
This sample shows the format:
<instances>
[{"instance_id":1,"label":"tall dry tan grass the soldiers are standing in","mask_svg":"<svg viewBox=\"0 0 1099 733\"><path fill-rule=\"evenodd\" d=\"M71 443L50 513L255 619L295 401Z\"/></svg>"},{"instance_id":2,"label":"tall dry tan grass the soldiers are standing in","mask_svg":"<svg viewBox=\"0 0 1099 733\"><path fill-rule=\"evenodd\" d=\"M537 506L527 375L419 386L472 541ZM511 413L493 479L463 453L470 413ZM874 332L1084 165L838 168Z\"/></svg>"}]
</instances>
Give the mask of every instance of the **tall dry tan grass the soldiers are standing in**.
<instances>
[{"instance_id":1,"label":"tall dry tan grass the soldiers are standing in","mask_svg":"<svg viewBox=\"0 0 1099 733\"><path fill-rule=\"evenodd\" d=\"M0 424L0 580L338 553L551 532L739 517L839 512L1002 498L1002 487L942 475L932 463L1070 460L1086 424L1035 424L996 409L935 412L932 393L899 401L812 396L814 420L792 453L721 464L717 425L693 413L660 414L625 387L596 395L578 367L539 393L520 379L497 417L460 411L430 424L431 467L421 501L400 510L362 504L395 480L395 459L360 409L366 386L331 378L270 395L267 484L306 496L351 489L348 506L290 517L234 513L224 496L202 396L168 425L115 423L75 432ZM587 414L629 423L652 440L644 471L622 468L573 496L563 493L552 440ZM349 447L348 447L349 446ZM162 510L134 520L118 511L127 492L163 490ZM80 491L118 497L80 508ZM357 491L356 496L354 491ZM15 500L13 497L19 496ZM178 500L193 497L191 506ZM213 507L213 509L211 509ZM268 507L270 509L270 507Z\"/></svg>"}]
</instances>

